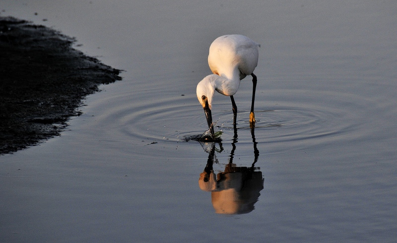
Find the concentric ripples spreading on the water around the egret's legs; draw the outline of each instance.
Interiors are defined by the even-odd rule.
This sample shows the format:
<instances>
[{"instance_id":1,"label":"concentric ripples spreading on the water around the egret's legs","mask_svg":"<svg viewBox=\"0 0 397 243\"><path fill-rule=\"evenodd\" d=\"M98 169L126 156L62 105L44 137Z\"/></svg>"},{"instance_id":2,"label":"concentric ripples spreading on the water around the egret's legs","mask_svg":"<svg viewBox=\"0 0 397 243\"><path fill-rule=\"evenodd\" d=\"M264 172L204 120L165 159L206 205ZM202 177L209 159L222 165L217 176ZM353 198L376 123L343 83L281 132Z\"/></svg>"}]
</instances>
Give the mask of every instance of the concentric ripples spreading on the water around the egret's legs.
<instances>
[{"instance_id":1,"label":"concentric ripples spreading on the water around the egret's legs","mask_svg":"<svg viewBox=\"0 0 397 243\"><path fill-rule=\"evenodd\" d=\"M118 141L143 145L179 142L185 136L202 134L207 129L204 112L194 94L166 94L148 97L146 93L131 98L131 93L125 92L100 100L95 106L102 107L103 113L96 116L93 125L107 127L103 132ZM217 121L215 130L224 132L223 142L232 141L230 100L215 95L212 104L212 117ZM250 94L242 92L240 96L246 98ZM249 99L243 102L241 98L235 99L239 107L239 144L252 143L249 110L243 109L250 106ZM363 136L358 132L365 117L360 111L371 105L370 101L348 93L296 89L261 92L256 101L256 141L274 145L293 143L301 148Z\"/></svg>"}]
</instances>

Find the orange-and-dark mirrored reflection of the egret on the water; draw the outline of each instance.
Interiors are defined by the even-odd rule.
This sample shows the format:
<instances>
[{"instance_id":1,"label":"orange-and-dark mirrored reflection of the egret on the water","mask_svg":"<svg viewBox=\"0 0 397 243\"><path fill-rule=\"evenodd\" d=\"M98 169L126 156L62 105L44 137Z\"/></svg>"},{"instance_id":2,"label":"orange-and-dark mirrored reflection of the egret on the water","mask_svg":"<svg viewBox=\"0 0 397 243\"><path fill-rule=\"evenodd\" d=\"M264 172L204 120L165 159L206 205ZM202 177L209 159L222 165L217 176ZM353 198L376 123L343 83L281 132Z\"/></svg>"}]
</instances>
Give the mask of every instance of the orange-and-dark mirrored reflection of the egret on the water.
<instances>
[{"instance_id":1,"label":"orange-and-dark mirrored reflection of the egret on the water","mask_svg":"<svg viewBox=\"0 0 397 243\"><path fill-rule=\"evenodd\" d=\"M209 151L207 165L200 174L199 186L204 191L211 191L212 206L219 214L244 214L254 210L260 191L264 188L264 179L259 168L254 167L258 161L259 151L255 141L254 128L251 134L254 141L255 160L251 167L237 167L233 164L234 151L237 142L237 129L234 129L233 148L229 163L224 172L215 176L213 163L215 159L215 146Z\"/></svg>"}]
</instances>

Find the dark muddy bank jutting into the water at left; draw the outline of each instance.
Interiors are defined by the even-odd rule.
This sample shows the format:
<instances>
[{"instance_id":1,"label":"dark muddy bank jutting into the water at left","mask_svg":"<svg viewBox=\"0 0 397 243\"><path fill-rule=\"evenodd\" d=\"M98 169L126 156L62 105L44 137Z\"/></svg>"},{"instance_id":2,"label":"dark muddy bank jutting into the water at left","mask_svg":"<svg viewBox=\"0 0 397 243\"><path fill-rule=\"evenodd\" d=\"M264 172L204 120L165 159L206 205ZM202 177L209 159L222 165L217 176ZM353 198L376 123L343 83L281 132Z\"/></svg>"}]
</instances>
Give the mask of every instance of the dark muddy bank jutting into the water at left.
<instances>
[{"instance_id":1,"label":"dark muddy bank jutting into the water at left","mask_svg":"<svg viewBox=\"0 0 397 243\"><path fill-rule=\"evenodd\" d=\"M75 40L41 25L0 17L0 155L57 136L98 85L120 70L85 56Z\"/></svg>"}]
</instances>

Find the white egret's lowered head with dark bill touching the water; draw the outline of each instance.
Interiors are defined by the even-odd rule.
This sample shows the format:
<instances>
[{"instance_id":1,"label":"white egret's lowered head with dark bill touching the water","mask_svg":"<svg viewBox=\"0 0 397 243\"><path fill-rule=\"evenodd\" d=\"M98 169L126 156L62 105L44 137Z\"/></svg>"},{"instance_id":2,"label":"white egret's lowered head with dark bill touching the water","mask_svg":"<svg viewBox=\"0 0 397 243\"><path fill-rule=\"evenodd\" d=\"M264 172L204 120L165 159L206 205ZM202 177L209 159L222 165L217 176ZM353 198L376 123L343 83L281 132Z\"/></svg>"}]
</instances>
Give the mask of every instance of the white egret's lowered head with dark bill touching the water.
<instances>
[{"instance_id":1,"label":"white egret's lowered head with dark bill touching the water","mask_svg":"<svg viewBox=\"0 0 397 243\"><path fill-rule=\"evenodd\" d=\"M212 116L211 116L211 103L212 97L214 96L215 84L212 80L212 75L206 76L199 82L196 89L197 99L204 108L205 117L207 119L208 127L211 127ZM211 133L214 134L213 127L211 127Z\"/></svg>"}]
</instances>

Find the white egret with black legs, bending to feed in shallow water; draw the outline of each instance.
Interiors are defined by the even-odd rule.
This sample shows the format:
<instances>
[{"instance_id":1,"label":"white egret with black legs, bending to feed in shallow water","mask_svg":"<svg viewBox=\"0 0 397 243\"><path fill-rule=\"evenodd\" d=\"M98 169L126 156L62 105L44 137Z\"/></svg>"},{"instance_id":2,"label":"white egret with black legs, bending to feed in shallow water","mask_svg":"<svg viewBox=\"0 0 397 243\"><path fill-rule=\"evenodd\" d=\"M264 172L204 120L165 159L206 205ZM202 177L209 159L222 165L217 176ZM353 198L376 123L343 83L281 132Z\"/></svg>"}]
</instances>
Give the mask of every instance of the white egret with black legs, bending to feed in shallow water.
<instances>
[{"instance_id":1,"label":"white egret with black legs, bending to feed in shallow water","mask_svg":"<svg viewBox=\"0 0 397 243\"><path fill-rule=\"evenodd\" d=\"M208 127L214 135L212 124L212 97L214 91L230 96L233 106L233 124L236 124L237 106L233 95L240 86L240 80L247 75L253 77L251 126L255 123L254 101L257 77L253 73L258 65L258 48L261 45L243 35L224 35L216 38L209 47L208 64L214 74L206 76L197 85L197 98L204 108Z\"/></svg>"}]
</instances>

